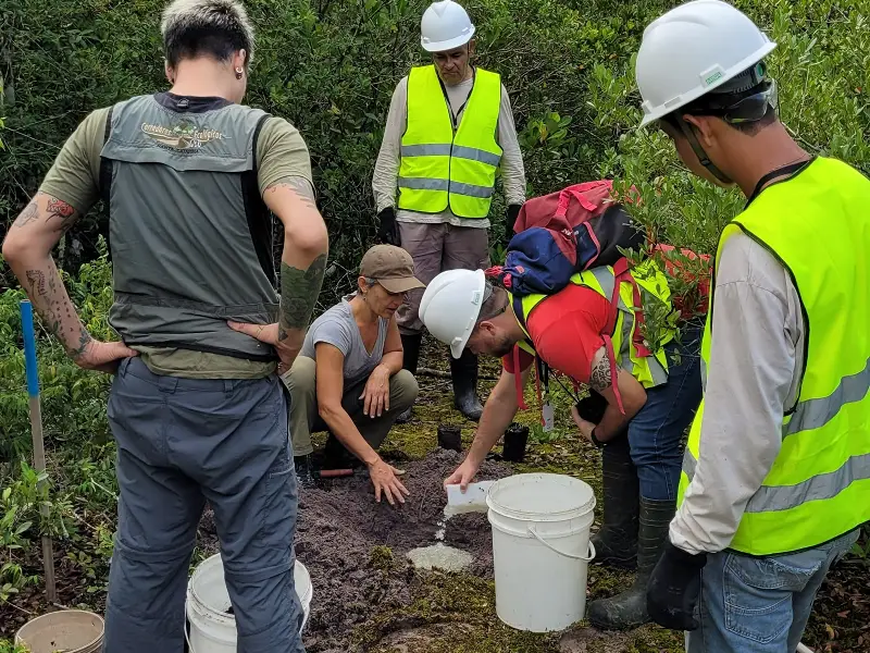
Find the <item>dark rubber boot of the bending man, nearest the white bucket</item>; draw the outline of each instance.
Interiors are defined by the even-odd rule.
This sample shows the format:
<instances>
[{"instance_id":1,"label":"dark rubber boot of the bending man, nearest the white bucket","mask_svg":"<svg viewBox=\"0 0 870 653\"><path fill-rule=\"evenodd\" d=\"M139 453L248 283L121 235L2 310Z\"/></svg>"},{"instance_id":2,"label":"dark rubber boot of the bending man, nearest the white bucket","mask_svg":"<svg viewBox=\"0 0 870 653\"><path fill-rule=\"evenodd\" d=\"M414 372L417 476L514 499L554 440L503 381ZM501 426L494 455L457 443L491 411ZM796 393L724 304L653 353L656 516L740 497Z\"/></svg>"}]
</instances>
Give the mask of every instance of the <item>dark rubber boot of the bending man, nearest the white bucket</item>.
<instances>
[{"instance_id":1,"label":"dark rubber boot of the bending man, nearest the white bucket","mask_svg":"<svg viewBox=\"0 0 870 653\"><path fill-rule=\"evenodd\" d=\"M589 603L589 623L601 630L625 630L648 623L646 588L661 556L668 530L676 513L676 501L641 497L641 528L637 542L637 576L626 591Z\"/></svg>"}]
</instances>

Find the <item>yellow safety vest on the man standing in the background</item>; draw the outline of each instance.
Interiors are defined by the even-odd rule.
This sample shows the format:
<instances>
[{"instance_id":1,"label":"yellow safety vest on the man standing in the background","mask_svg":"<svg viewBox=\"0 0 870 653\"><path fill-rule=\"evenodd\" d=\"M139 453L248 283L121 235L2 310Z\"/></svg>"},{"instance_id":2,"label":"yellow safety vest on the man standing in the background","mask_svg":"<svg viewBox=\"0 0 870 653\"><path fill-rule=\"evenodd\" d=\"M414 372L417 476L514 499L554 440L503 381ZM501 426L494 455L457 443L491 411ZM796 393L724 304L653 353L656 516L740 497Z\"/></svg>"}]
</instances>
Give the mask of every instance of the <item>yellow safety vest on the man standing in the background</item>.
<instances>
[{"instance_id":1,"label":"yellow safety vest on the man standing in the background","mask_svg":"<svg viewBox=\"0 0 870 653\"><path fill-rule=\"evenodd\" d=\"M459 128L434 65L408 76L408 126L401 137L398 207L460 218L486 218L501 148L496 141L501 78L475 69Z\"/></svg>"}]
</instances>

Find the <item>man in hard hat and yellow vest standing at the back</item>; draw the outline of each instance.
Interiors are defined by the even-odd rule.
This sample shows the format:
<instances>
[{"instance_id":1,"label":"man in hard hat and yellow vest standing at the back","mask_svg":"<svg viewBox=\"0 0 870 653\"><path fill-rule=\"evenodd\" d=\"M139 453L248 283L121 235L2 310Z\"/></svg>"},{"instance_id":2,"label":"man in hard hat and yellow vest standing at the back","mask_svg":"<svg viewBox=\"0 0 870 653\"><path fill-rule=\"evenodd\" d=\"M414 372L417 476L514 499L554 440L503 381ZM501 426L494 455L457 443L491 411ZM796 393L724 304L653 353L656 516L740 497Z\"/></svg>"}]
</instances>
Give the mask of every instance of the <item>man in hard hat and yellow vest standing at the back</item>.
<instances>
[{"instance_id":1,"label":"man in hard hat and yellow vest standing at the back","mask_svg":"<svg viewBox=\"0 0 870 653\"><path fill-rule=\"evenodd\" d=\"M432 64L413 67L393 94L372 188L378 239L409 251L417 276L428 283L443 270L488 266L496 171L508 235L525 200L525 173L508 91L497 73L471 63L475 28L465 10L452 0L433 2L420 27ZM495 233L501 237L501 229ZM411 373L423 335L421 297L422 291L409 293L397 315ZM450 372L456 407L480 419L476 356L451 359ZM410 417L411 408L399 421Z\"/></svg>"}]
</instances>

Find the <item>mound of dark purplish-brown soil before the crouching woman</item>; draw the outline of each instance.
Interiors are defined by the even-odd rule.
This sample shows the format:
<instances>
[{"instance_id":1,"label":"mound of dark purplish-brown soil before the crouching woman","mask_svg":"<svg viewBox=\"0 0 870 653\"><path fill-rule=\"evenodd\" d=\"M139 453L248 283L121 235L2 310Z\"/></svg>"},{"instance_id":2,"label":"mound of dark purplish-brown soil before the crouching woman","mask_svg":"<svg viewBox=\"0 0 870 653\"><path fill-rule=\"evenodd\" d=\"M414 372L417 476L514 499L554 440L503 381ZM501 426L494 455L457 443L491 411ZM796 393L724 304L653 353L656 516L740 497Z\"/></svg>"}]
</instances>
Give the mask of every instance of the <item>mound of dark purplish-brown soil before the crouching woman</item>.
<instances>
[{"instance_id":1,"label":"mound of dark purplish-brown soil before the crouching woman","mask_svg":"<svg viewBox=\"0 0 870 653\"><path fill-rule=\"evenodd\" d=\"M411 601L414 570L405 554L436 542L447 503L444 479L461 460L457 452L437 449L405 465L402 482L411 495L400 507L384 498L375 503L371 481L359 472L302 491L296 554L314 587L304 638L309 653L352 650L351 631L372 616L375 606L383 612ZM480 478L509 473L506 465L485 463ZM471 571L490 578L489 533L485 514L457 515L446 522L444 542L469 552L474 557Z\"/></svg>"}]
</instances>

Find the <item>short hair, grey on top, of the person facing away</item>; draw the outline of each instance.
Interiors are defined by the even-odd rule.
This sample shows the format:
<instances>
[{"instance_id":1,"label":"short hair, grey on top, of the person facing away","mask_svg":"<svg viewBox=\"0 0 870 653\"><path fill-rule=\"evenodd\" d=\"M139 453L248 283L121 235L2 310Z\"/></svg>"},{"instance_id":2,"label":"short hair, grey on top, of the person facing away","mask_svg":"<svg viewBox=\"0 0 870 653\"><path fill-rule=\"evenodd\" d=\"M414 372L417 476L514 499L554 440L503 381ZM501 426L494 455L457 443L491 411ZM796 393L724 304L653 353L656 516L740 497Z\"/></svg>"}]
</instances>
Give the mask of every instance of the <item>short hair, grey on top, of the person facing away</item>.
<instances>
[{"instance_id":1,"label":"short hair, grey on top, of the person facing away","mask_svg":"<svg viewBox=\"0 0 870 653\"><path fill-rule=\"evenodd\" d=\"M203 54L227 61L239 50L247 52L246 66L253 59L253 27L238 0L174 0L160 32L171 66Z\"/></svg>"}]
</instances>

